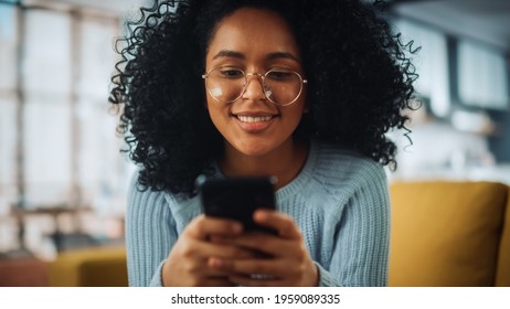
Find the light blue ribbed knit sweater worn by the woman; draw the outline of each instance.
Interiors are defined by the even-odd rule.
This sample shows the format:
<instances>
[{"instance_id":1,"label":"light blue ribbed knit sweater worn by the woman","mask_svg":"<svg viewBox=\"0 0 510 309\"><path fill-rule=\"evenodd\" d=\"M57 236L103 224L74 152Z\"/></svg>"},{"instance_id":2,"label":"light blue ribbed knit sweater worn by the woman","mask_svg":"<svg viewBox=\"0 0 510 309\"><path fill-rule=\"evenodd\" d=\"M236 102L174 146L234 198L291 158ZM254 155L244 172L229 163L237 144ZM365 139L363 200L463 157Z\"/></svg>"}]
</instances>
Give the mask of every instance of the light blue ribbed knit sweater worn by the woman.
<instances>
[{"instance_id":1,"label":"light blue ribbed knit sweater worn by the woman","mask_svg":"<svg viewBox=\"0 0 510 309\"><path fill-rule=\"evenodd\" d=\"M219 174L219 177L222 177ZM307 162L276 192L319 268L319 286L386 286L390 201L383 168L353 152L312 141ZM126 216L130 286L161 286L161 267L200 200L136 189Z\"/></svg>"}]
</instances>

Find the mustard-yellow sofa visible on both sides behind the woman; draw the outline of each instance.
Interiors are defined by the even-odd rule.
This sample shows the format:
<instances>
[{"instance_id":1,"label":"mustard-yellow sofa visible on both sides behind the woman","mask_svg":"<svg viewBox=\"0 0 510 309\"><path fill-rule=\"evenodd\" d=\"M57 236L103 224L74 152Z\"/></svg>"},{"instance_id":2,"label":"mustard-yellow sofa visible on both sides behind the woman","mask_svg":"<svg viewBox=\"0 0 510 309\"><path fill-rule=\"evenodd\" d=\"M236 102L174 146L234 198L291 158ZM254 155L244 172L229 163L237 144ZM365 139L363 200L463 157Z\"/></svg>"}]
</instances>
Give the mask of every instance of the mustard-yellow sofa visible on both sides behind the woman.
<instances>
[{"instance_id":1,"label":"mustard-yellow sofa visible on both sides behind the woman","mask_svg":"<svg viewBox=\"0 0 510 309\"><path fill-rule=\"evenodd\" d=\"M491 182L390 187L390 286L510 286L510 190ZM52 286L126 286L124 248L63 253Z\"/></svg>"}]
</instances>

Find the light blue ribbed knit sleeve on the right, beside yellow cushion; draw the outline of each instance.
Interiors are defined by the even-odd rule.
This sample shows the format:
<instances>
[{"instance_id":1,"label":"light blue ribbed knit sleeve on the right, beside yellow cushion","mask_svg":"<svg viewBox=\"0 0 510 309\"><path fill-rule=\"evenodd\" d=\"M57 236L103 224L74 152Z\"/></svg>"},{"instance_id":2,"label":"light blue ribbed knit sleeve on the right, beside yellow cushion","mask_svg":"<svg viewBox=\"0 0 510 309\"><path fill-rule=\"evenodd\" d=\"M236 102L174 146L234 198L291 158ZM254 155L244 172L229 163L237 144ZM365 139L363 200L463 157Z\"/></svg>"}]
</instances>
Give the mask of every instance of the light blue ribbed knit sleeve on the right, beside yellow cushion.
<instances>
[{"instance_id":1,"label":"light blue ribbed knit sleeve on the right, beside yellow cushion","mask_svg":"<svg viewBox=\"0 0 510 309\"><path fill-rule=\"evenodd\" d=\"M363 164L352 178L352 192L334 231L334 248L321 285L387 286L390 198L381 166Z\"/></svg>"}]
</instances>

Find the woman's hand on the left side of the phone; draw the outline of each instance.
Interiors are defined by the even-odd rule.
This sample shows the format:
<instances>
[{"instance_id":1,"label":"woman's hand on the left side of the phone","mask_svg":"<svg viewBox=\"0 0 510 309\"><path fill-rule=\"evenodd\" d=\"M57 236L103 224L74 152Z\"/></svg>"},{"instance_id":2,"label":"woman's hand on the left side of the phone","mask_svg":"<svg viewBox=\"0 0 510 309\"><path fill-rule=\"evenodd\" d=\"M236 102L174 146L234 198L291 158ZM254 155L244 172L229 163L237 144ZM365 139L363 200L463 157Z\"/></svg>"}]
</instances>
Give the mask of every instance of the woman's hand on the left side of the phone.
<instances>
[{"instance_id":1,"label":"woman's hand on the left side of the phone","mask_svg":"<svg viewBox=\"0 0 510 309\"><path fill-rule=\"evenodd\" d=\"M200 215L191 221L170 251L163 265L163 286L232 286L224 270L209 265L212 257L246 258L253 253L238 246L211 242L214 236L243 233L241 223Z\"/></svg>"}]
</instances>

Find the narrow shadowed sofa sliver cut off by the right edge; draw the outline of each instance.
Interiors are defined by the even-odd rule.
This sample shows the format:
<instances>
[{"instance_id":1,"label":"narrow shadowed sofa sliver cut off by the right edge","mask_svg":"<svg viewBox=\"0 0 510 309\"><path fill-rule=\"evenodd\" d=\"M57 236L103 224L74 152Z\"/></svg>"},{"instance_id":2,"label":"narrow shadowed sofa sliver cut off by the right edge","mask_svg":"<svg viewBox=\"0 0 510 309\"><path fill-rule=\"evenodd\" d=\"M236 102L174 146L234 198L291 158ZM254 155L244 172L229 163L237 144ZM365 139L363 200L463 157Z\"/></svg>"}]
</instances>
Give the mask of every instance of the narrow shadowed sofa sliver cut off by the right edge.
<instances>
[{"instance_id":1,"label":"narrow shadowed sofa sliver cut off by the right edge","mask_svg":"<svg viewBox=\"0 0 510 309\"><path fill-rule=\"evenodd\" d=\"M510 188L508 191L503 233L499 244L498 271L496 286L510 287Z\"/></svg>"}]
</instances>

